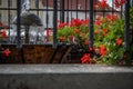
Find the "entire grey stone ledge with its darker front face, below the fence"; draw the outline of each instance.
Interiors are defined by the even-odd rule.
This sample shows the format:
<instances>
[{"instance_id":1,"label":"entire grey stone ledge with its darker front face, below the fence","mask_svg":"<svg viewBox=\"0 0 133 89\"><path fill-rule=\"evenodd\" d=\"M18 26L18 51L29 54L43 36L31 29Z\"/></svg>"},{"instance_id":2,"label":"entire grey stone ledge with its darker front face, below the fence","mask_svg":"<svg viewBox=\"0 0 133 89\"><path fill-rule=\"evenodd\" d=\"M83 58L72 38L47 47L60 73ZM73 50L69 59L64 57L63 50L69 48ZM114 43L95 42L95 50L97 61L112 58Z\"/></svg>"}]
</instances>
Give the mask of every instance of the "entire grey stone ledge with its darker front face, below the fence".
<instances>
[{"instance_id":1,"label":"entire grey stone ledge with its darker front face, below the fence","mask_svg":"<svg viewBox=\"0 0 133 89\"><path fill-rule=\"evenodd\" d=\"M133 67L0 65L0 89L133 89Z\"/></svg>"}]
</instances>

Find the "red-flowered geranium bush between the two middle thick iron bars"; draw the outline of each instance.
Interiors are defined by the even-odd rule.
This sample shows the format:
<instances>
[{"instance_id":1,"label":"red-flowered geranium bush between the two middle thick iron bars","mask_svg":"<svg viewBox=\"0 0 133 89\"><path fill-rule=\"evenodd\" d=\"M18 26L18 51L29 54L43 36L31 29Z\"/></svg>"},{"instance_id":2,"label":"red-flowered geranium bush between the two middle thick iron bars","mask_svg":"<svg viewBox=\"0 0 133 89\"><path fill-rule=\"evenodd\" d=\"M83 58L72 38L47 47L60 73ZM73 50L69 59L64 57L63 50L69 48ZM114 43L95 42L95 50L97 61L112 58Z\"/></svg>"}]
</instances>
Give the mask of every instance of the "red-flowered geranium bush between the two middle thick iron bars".
<instances>
[{"instance_id":1,"label":"red-flowered geranium bush between the two middle thick iron bars","mask_svg":"<svg viewBox=\"0 0 133 89\"><path fill-rule=\"evenodd\" d=\"M89 19L73 19L68 23L59 23L58 40L59 42L76 44L84 51L89 46Z\"/></svg>"}]
</instances>

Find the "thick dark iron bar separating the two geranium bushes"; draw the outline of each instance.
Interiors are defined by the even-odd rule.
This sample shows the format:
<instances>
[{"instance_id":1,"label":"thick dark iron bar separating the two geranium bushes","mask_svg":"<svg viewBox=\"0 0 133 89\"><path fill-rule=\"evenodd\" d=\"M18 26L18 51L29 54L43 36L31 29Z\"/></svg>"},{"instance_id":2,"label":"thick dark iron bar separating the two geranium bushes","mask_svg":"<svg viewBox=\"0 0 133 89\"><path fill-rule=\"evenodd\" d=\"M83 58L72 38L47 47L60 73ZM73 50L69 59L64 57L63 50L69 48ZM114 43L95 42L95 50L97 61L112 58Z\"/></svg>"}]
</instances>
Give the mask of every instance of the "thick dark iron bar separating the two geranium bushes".
<instances>
[{"instance_id":1,"label":"thick dark iron bar separating the two geranium bushes","mask_svg":"<svg viewBox=\"0 0 133 89\"><path fill-rule=\"evenodd\" d=\"M90 48L93 47L93 0L90 0L90 23L89 23L89 40L90 40Z\"/></svg>"}]
</instances>

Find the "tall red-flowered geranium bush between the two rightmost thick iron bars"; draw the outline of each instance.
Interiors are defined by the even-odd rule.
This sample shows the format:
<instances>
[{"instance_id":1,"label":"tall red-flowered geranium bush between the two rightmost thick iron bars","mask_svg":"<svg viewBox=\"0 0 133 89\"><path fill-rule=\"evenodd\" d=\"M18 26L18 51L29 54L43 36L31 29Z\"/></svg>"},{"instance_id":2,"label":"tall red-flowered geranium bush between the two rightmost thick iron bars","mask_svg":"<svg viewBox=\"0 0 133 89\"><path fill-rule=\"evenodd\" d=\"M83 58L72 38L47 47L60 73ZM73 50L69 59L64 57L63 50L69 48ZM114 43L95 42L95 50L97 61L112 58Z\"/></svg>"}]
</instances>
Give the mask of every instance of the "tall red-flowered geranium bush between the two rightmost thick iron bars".
<instances>
[{"instance_id":1,"label":"tall red-flowered geranium bush between the two rightmost thick iron bars","mask_svg":"<svg viewBox=\"0 0 133 89\"><path fill-rule=\"evenodd\" d=\"M102 58L99 63L117 65L125 58L124 20L111 14L102 18L101 22L94 29L94 46Z\"/></svg>"}]
</instances>

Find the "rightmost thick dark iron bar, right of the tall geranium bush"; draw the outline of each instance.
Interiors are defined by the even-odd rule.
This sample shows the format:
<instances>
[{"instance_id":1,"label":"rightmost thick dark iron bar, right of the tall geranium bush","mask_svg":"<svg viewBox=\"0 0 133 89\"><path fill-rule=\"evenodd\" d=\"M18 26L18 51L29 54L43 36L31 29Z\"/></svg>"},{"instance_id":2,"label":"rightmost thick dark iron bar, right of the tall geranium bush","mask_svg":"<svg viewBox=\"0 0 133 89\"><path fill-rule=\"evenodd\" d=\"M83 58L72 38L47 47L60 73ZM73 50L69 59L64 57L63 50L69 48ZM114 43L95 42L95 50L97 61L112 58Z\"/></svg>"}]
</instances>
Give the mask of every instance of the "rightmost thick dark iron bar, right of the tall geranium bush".
<instances>
[{"instance_id":1,"label":"rightmost thick dark iron bar, right of the tall geranium bush","mask_svg":"<svg viewBox=\"0 0 133 89\"><path fill-rule=\"evenodd\" d=\"M130 49L130 0L125 2L125 32L124 32L124 41L126 50Z\"/></svg>"}]
</instances>

